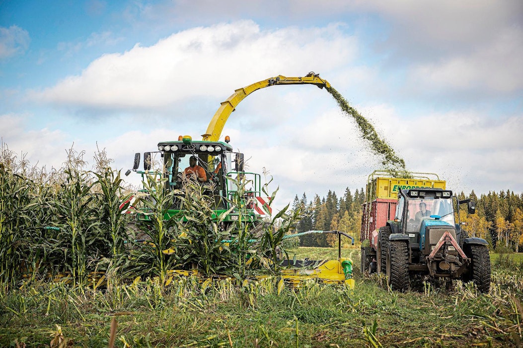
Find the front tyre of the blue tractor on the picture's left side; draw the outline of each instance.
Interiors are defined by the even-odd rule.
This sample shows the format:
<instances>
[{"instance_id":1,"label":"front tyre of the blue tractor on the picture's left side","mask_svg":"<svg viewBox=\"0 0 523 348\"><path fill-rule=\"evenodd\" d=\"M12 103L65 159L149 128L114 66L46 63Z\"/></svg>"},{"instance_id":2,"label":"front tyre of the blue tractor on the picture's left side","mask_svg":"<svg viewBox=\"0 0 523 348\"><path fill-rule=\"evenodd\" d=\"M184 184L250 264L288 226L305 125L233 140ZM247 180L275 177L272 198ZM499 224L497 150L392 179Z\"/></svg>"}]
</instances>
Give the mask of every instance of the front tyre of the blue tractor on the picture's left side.
<instances>
[{"instance_id":1,"label":"front tyre of the blue tractor on the picture's left side","mask_svg":"<svg viewBox=\"0 0 523 348\"><path fill-rule=\"evenodd\" d=\"M407 243L391 241L386 258L386 275L392 290L408 289L408 248Z\"/></svg>"}]
</instances>

